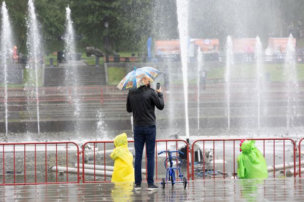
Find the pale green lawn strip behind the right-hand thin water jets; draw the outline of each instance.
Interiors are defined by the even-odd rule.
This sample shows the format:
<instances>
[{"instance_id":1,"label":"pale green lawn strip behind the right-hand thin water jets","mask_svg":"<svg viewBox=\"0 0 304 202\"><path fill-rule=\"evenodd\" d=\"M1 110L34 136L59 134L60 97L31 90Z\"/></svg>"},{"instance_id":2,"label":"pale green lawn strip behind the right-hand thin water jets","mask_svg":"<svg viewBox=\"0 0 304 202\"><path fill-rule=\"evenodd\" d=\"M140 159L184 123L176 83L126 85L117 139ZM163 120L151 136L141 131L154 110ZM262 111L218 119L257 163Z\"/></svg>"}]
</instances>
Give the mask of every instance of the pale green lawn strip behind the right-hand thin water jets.
<instances>
[{"instance_id":1,"label":"pale green lawn strip behind the right-hand thin water jets","mask_svg":"<svg viewBox=\"0 0 304 202\"><path fill-rule=\"evenodd\" d=\"M298 81L304 81L304 64L296 64ZM284 78L284 64L264 64L265 74L270 74L271 82L283 82ZM224 79L225 68L217 67L207 72L209 79ZM265 75L262 75L265 79ZM255 78L255 64L236 65L231 71L231 79L239 78Z\"/></svg>"}]
</instances>

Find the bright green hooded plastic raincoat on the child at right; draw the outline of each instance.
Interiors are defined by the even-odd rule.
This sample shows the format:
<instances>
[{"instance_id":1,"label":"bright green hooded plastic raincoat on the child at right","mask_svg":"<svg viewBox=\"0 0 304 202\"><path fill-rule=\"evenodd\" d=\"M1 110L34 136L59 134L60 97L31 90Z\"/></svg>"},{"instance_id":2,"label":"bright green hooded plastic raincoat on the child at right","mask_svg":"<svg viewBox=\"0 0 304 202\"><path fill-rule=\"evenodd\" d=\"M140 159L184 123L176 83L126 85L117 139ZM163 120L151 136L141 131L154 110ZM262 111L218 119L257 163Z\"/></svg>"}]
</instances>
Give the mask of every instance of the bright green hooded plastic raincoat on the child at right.
<instances>
[{"instance_id":1,"label":"bright green hooded plastic raincoat on the child at right","mask_svg":"<svg viewBox=\"0 0 304 202\"><path fill-rule=\"evenodd\" d=\"M237 158L239 178L268 178L265 158L254 144L254 140L242 143L242 153Z\"/></svg>"}]
</instances>

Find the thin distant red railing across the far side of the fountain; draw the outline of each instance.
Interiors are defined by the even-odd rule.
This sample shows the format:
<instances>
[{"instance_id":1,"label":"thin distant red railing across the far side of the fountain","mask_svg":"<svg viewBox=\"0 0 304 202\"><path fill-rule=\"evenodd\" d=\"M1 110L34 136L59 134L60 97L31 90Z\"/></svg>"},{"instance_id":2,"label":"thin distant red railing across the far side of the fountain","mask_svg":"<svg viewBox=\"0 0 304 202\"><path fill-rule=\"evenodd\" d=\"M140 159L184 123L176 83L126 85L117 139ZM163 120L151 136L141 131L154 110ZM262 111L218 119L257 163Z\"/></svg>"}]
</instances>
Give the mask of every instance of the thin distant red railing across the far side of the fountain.
<instances>
[{"instance_id":1,"label":"thin distant red railing across the far side of the fountain","mask_svg":"<svg viewBox=\"0 0 304 202\"><path fill-rule=\"evenodd\" d=\"M225 84L208 84L205 85L206 89L216 89L216 88L224 88ZM280 88L283 85L283 83L271 83L269 84L270 88ZM304 83L300 83L299 85L304 85ZM233 88L238 88L239 86L244 87L243 83L233 83L231 84ZM248 83L248 86L251 86L251 83ZM203 86L201 86L203 88ZM170 85L170 91L182 93L180 91L182 89L181 85ZM92 101L92 100L100 100L101 103L103 103L103 99L106 101L112 101L112 100L125 100L127 96L128 91L119 91L116 86L105 86L105 87L79 87L79 88L70 88L70 87L58 87L58 88L39 88L39 100L45 101L45 102L57 102L57 101L66 101L67 97L71 97L71 95L75 94L75 91L77 91L77 94L82 95L80 96L80 100L83 101ZM34 88L27 88L25 90L24 88L10 88L8 89L8 102L25 102L27 94L30 92L35 92ZM165 93L165 90L164 90ZM175 94L176 94L175 93ZM104 96L107 95L107 96ZM108 96L111 95L111 96ZM2 102L4 99L4 89L0 88L0 102ZM244 97L245 96L245 97ZM284 98L284 94L281 94L279 92L270 92L268 94L270 98ZM304 94L300 95L301 97L304 97ZM219 92L215 93L212 92L204 92L201 93L200 99L220 99L224 97L224 94ZM242 99L246 98L246 95L242 95L239 93L233 94L234 98L236 99ZM198 98L198 89L196 85L189 85L188 86L188 98L191 100L197 100ZM183 96L176 96L174 100L183 99ZM35 98L30 99L29 101L35 101Z\"/></svg>"}]
</instances>

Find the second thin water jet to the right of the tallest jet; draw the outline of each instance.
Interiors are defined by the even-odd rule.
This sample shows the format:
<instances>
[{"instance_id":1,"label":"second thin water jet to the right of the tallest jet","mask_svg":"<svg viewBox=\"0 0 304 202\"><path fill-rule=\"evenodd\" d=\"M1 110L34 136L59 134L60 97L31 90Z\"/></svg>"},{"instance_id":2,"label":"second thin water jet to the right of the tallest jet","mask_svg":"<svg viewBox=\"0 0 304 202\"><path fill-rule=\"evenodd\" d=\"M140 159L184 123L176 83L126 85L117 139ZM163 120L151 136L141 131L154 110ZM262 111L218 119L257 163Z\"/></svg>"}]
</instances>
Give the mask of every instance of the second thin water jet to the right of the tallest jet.
<instances>
[{"instance_id":1,"label":"second thin water jet to the right of the tallest jet","mask_svg":"<svg viewBox=\"0 0 304 202\"><path fill-rule=\"evenodd\" d=\"M226 69L225 69L225 82L226 82L226 102L227 102L227 125L230 130L230 71L234 63L233 59L233 44L231 36L227 36L226 42Z\"/></svg>"}]
</instances>

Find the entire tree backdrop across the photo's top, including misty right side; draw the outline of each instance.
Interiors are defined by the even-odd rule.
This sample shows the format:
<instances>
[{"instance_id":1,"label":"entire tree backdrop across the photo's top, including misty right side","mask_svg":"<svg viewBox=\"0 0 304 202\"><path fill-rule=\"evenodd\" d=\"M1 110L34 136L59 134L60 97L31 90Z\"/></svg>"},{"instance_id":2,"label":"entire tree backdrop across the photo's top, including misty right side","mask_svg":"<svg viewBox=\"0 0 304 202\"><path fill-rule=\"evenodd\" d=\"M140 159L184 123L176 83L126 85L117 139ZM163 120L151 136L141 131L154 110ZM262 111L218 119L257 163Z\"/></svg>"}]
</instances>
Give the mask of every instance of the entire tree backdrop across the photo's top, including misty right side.
<instances>
[{"instance_id":1,"label":"entire tree backdrop across the photo's top, including misty right side","mask_svg":"<svg viewBox=\"0 0 304 202\"><path fill-rule=\"evenodd\" d=\"M286 37L304 30L304 2L284 0L192 0L189 2L189 36L219 38L227 35L267 38ZM155 40L179 38L176 0L35 0L37 19L47 50L64 47L65 8L70 6L80 49L95 46L144 52L148 37ZM26 52L27 0L9 0L7 6L16 45ZM104 23L108 22L108 29ZM297 36L296 34L294 35ZM224 47L224 44L221 45Z\"/></svg>"}]
</instances>

